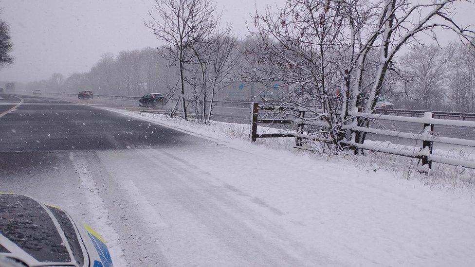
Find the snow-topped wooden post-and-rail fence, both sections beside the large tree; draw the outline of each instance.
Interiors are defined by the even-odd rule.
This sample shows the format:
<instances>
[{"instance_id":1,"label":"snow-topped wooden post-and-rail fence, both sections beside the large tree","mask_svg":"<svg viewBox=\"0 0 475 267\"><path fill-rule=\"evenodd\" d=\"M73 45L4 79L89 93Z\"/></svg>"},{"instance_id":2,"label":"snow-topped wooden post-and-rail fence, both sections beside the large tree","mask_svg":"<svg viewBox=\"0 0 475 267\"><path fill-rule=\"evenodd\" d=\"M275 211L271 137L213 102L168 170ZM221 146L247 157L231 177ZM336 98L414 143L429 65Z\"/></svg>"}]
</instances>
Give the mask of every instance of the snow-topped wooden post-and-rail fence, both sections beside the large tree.
<instances>
[{"instance_id":1,"label":"snow-topped wooden post-and-rail fence, both sections beside the large tree","mask_svg":"<svg viewBox=\"0 0 475 267\"><path fill-rule=\"evenodd\" d=\"M279 107L279 108L282 109L283 107ZM293 107L286 107L286 108L292 109ZM276 110L275 107L259 106L257 102L253 102L251 105L251 109L252 109L251 134L250 134L251 142L255 142L257 138L294 137L295 145L301 146L303 139L318 141L315 139L314 136L304 134L304 126L306 125L304 121L281 120L281 119L272 120L272 119L258 118L259 110ZM299 110L298 112L299 112L300 118L305 118L305 111ZM356 143L352 140L341 141L341 143L345 146L420 159L421 165L427 166L428 168L432 167L432 162L439 162L443 164L463 166L463 167L475 169L474 161L450 159L450 158L434 155L432 153L434 142L475 147L475 140L441 137L441 136L434 135L434 125L462 126L462 127L471 127L475 129L475 121L436 119L434 118L433 112L425 112L423 117L403 117L403 116L374 114L374 113L362 113L362 112L358 112L357 110L352 110L349 112L349 115L354 116L356 118L366 118L366 119L371 119L371 120L390 120L390 121L407 122L407 123L420 123L423 125L422 132L417 133L417 134L406 133L406 132L401 132L401 131L393 131L393 130L376 129L376 128L370 128L370 127L361 127L361 126L357 126L356 121L354 121L351 125L346 125L345 129L350 132L372 133L372 134L378 134L378 135L383 135L383 136L420 140L422 141L422 148L414 147L414 150L406 151L406 150L400 150L400 149L389 148L389 147L381 147L381 146L371 145L371 144ZM269 124L297 124L298 130L297 132L258 134L257 125L259 123L268 124L268 125Z\"/></svg>"}]
</instances>

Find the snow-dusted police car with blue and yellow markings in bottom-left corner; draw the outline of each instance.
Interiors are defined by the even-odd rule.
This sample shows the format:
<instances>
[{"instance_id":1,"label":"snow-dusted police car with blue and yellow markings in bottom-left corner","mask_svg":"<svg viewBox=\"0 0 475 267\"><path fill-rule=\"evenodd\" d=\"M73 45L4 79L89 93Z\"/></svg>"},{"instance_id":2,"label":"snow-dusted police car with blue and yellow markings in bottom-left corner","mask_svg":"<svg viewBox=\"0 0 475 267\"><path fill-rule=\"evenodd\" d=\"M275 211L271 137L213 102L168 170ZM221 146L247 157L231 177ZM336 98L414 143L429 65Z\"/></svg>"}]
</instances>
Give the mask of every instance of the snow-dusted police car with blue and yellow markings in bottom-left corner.
<instances>
[{"instance_id":1,"label":"snow-dusted police car with blue and yellow markings in bottom-left corner","mask_svg":"<svg viewBox=\"0 0 475 267\"><path fill-rule=\"evenodd\" d=\"M58 207L9 193L0 193L0 257L26 266L112 266L104 239L91 228Z\"/></svg>"}]
</instances>

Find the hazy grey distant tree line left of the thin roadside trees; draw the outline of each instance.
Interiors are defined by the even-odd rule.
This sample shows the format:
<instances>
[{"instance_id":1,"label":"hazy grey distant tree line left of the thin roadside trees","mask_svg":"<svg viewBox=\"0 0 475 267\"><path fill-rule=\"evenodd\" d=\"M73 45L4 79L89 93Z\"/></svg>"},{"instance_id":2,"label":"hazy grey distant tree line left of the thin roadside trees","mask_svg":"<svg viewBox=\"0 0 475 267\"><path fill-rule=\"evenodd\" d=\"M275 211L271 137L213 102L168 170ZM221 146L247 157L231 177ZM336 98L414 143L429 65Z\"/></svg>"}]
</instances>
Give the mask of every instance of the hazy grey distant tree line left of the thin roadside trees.
<instances>
[{"instance_id":1,"label":"hazy grey distant tree line left of the thin roadside trees","mask_svg":"<svg viewBox=\"0 0 475 267\"><path fill-rule=\"evenodd\" d=\"M97 94L137 96L163 92L174 86L177 73L157 48L105 53L89 72L74 72L68 77L54 73L49 79L26 85L28 90L74 93L92 90Z\"/></svg>"}]
</instances>

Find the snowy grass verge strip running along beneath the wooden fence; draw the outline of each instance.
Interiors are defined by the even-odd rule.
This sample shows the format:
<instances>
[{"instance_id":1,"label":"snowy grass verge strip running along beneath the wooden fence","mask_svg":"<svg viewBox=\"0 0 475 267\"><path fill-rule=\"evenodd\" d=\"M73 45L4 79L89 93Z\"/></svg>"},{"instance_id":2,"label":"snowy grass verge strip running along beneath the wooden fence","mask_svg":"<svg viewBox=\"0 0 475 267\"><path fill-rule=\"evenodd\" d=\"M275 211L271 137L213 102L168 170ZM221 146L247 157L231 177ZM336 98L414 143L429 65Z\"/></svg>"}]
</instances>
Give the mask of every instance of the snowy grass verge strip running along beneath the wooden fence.
<instances>
[{"instance_id":1,"label":"snowy grass verge strip running along beneath the wooden fence","mask_svg":"<svg viewBox=\"0 0 475 267\"><path fill-rule=\"evenodd\" d=\"M134 112L113 109L116 112L127 114L136 118L146 119L153 122L160 123L162 125L175 127L184 130L188 133L198 134L201 137L211 138L213 140L219 140L220 142L226 142L234 147L242 147L249 144L250 125L226 123L213 121L211 125L203 125L195 122L193 119L186 122L182 118L170 118L164 114L152 114L146 112ZM257 126L257 133L276 133L281 132L280 129ZM365 156L355 156L351 152L343 155L329 155L322 152L322 147L318 144L312 151L301 151L295 149L295 139L293 138L262 138L257 139L256 144L265 147L288 150L295 155L307 155L317 153L317 159L324 160L344 160L344 164L353 162L355 165L366 169L385 169L390 170L394 176L404 179L419 179L426 185L438 188L449 189L464 189L472 192L475 190L475 170L469 168L463 168L459 166L451 166L446 164L439 164L433 162L433 168L429 174L420 174L418 159L407 158L402 156L396 156L391 154L385 154L382 152L366 151ZM396 150L412 152L414 146L393 144L391 142L370 141L366 140L365 144L372 146L384 146ZM418 144L416 144L418 145ZM418 145L420 146L420 144ZM440 148L437 148L440 147ZM324 151L325 152L325 151ZM452 159L460 160L475 160L475 149L471 147L461 146L436 146L433 150L433 154L443 156Z\"/></svg>"}]
</instances>

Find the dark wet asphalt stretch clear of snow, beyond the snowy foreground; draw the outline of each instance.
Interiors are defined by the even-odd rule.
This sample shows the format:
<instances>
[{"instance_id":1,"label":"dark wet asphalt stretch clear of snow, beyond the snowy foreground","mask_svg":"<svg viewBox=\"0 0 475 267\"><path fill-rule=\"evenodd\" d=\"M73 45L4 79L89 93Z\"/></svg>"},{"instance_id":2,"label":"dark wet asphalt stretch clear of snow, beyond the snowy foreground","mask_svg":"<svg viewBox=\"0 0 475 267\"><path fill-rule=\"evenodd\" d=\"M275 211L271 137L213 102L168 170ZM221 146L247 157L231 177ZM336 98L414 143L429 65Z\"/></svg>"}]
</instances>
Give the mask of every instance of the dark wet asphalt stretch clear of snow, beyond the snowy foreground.
<instances>
[{"instance_id":1,"label":"dark wet asphalt stretch clear of snow, beyond the snowy foreground","mask_svg":"<svg viewBox=\"0 0 475 267\"><path fill-rule=\"evenodd\" d=\"M186 145L190 136L107 110L37 96L1 96L0 152ZM186 138L185 138L186 137Z\"/></svg>"}]
</instances>

